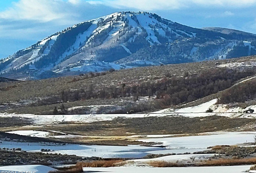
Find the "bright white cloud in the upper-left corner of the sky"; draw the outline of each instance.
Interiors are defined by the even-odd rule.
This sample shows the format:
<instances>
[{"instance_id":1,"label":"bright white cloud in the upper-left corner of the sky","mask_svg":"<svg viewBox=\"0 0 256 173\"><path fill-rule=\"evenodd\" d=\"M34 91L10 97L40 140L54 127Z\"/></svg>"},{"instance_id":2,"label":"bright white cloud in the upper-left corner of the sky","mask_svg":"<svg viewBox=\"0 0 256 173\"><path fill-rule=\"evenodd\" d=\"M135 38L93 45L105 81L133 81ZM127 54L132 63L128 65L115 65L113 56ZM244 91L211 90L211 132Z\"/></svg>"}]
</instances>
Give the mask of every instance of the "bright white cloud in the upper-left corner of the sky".
<instances>
[{"instance_id":1,"label":"bright white cloud in the upper-left corner of the sky","mask_svg":"<svg viewBox=\"0 0 256 173\"><path fill-rule=\"evenodd\" d=\"M70 24L77 18L95 16L97 12L101 14L102 8L106 6L93 5L85 0L20 0L14 2L12 7L0 12L0 20L36 20L42 23L56 21L61 24ZM107 11L110 11L110 7Z\"/></svg>"}]
</instances>

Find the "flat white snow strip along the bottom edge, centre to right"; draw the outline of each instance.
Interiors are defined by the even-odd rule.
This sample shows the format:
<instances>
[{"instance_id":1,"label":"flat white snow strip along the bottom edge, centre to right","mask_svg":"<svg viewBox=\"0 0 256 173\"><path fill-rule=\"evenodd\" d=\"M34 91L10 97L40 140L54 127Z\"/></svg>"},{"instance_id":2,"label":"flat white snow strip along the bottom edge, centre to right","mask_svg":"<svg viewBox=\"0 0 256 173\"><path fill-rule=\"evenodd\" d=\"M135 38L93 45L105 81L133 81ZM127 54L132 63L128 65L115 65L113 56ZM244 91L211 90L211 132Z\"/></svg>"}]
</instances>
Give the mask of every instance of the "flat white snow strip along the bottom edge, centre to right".
<instances>
[{"instance_id":1,"label":"flat white snow strip along the bottom edge, centre to right","mask_svg":"<svg viewBox=\"0 0 256 173\"><path fill-rule=\"evenodd\" d=\"M83 168L88 172L101 173L242 173L249 170L251 165L246 166L229 166L229 167L169 167L169 168L153 168L153 167L109 167L109 168Z\"/></svg>"}]
</instances>

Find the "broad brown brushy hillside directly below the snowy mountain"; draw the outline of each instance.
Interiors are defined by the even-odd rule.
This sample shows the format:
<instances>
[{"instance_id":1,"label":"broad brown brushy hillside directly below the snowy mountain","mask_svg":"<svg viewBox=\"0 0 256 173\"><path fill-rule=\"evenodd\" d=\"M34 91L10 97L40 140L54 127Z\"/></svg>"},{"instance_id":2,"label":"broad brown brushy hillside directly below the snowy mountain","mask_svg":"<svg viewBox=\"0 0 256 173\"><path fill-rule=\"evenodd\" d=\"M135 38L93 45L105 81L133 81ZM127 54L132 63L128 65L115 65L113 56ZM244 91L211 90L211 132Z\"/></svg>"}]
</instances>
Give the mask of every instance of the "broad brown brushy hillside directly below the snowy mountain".
<instances>
[{"instance_id":1,"label":"broad brown brushy hillside directly below the snowy mountain","mask_svg":"<svg viewBox=\"0 0 256 173\"><path fill-rule=\"evenodd\" d=\"M110 70L102 73L0 83L0 111L82 114L151 111L195 101L256 74L256 57ZM249 65L248 65L249 64ZM15 102L15 104L13 104Z\"/></svg>"}]
</instances>

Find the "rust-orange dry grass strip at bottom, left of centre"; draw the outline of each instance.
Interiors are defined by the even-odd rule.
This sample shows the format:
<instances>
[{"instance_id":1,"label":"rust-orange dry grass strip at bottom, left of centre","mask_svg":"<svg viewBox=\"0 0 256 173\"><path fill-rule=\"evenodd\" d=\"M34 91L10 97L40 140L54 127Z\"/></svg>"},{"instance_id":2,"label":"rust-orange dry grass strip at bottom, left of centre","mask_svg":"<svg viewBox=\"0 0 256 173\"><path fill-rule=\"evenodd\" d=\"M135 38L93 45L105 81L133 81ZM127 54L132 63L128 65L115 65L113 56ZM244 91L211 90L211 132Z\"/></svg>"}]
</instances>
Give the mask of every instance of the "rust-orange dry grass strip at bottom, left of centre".
<instances>
[{"instance_id":1,"label":"rust-orange dry grass strip at bottom, left of centre","mask_svg":"<svg viewBox=\"0 0 256 173\"><path fill-rule=\"evenodd\" d=\"M78 162L76 167L118 167L123 166L122 159L113 160L97 160L92 162Z\"/></svg>"}]
</instances>

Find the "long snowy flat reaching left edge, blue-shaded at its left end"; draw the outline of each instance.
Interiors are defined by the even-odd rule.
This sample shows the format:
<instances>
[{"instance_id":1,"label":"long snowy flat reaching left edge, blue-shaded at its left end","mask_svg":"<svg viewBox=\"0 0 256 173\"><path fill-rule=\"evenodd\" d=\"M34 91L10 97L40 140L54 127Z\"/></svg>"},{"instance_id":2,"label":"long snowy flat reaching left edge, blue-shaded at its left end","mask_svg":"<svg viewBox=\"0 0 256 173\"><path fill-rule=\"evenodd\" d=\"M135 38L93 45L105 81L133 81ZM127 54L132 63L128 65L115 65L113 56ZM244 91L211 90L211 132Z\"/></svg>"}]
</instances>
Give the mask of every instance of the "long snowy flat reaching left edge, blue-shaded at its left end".
<instances>
[{"instance_id":1,"label":"long snowy flat reaching left edge, blue-shaded at its left end","mask_svg":"<svg viewBox=\"0 0 256 173\"><path fill-rule=\"evenodd\" d=\"M145 146L97 146L78 144L54 144L54 143L27 143L2 141L1 148L21 148L25 151L41 152L41 149L50 149L48 153L75 154L82 157L102 158L142 158L148 155L148 151L166 150L159 147Z\"/></svg>"}]
</instances>

